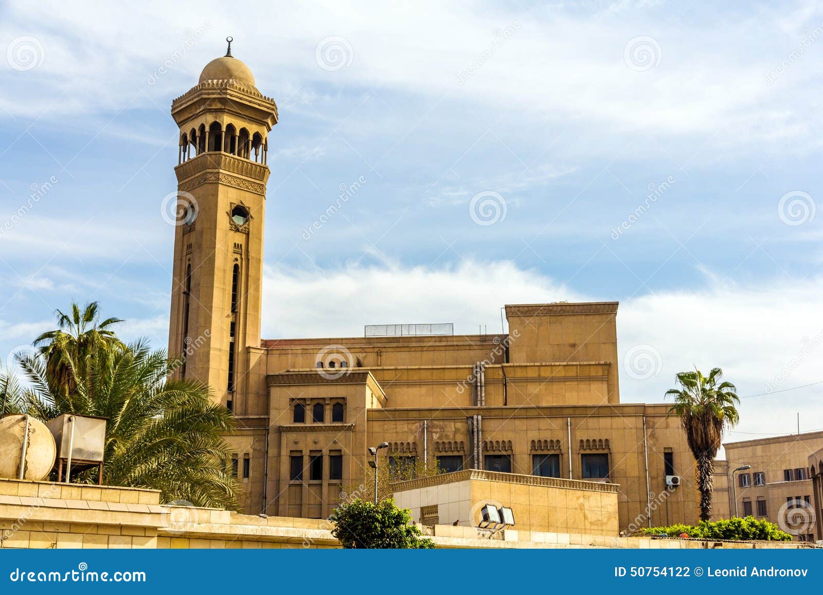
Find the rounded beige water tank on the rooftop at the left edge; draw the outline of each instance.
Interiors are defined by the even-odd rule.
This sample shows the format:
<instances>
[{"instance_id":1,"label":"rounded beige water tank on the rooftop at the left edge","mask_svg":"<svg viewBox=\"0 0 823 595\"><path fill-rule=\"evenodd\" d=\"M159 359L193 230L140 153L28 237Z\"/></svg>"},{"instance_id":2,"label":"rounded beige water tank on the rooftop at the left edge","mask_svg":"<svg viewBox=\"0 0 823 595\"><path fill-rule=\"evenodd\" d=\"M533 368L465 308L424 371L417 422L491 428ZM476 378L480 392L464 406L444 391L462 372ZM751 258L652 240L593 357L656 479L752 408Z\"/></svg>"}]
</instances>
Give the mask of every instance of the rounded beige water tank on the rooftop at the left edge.
<instances>
[{"instance_id":1,"label":"rounded beige water tank on the rooftop at the left edge","mask_svg":"<svg viewBox=\"0 0 823 595\"><path fill-rule=\"evenodd\" d=\"M28 432L26 432L28 421ZM28 437L26 438L26 434ZM9 414L0 418L0 477L20 479L23 448L26 467L23 479L40 481L49 476L57 455L54 437L42 421L32 416Z\"/></svg>"}]
</instances>

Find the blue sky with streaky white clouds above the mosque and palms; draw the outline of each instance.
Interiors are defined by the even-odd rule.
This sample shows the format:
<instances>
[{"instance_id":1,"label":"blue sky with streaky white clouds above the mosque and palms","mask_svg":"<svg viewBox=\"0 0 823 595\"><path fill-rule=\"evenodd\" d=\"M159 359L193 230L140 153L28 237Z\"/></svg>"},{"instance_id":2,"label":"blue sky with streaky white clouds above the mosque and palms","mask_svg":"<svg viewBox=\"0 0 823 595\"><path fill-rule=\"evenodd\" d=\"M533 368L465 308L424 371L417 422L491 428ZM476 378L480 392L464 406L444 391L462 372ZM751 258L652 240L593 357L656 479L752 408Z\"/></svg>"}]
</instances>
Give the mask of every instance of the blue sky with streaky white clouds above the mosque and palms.
<instances>
[{"instance_id":1,"label":"blue sky with streaky white clouds above the mosque and palms","mask_svg":"<svg viewBox=\"0 0 823 595\"><path fill-rule=\"evenodd\" d=\"M71 300L165 346L170 102L233 35L280 109L265 336L620 300L624 401L720 365L793 389L732 439L823 428L823 8L294 4L0 7L0 354Z\"/></svg>"}]
</instances>

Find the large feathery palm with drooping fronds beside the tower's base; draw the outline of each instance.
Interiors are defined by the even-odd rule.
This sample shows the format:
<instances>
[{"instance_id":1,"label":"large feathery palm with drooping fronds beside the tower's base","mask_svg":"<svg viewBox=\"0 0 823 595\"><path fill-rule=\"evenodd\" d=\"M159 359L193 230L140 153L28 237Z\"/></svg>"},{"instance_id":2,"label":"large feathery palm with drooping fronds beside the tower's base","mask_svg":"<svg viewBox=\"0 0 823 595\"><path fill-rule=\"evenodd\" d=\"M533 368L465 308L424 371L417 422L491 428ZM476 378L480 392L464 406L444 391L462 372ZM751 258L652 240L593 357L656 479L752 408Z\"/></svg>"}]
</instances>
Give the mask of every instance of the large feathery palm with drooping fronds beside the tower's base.
<instances>
[{"instance_id":1,"label":"large feathery palm with drooping fronds beside the tower's base","mask_svg":"<svg viewBox=\"0 0 823 595\"><path fill-rule=\"evenodd\" d=\"M48 354L18 357L30 386L8 401L25 402L26 411L43 421L69 412L107 418L105 485L160 490L164 502L236 507L231 451L223 438L234 418L212 402L207 385L167 379L173 364L166 352L151 351L144 341L92 349L84 357L85 374L74 377L68 400L53 392L53 374L60 372ZM97 473L80 472L72 481L96 483Z\"/></svg>"}]
</instances>

